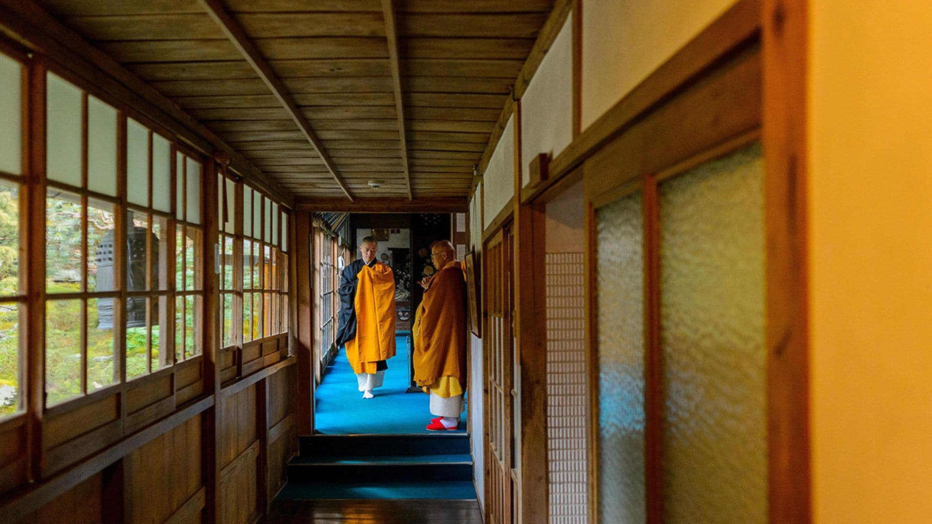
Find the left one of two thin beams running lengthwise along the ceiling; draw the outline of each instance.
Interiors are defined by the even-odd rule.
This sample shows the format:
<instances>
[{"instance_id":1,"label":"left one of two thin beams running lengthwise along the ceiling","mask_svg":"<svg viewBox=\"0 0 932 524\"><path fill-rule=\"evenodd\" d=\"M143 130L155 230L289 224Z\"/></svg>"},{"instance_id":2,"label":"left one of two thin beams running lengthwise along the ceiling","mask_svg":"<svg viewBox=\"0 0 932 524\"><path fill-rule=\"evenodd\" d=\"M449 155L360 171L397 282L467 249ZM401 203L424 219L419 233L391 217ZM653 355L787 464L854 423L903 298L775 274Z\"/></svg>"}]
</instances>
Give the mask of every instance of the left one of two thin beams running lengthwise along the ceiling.
<instances>
[{"instance_id":1,"label":"left one of two thin beams running lengthwise along the ceiling","mask_svg":"<svg viewBox=\"0 0 932 524\"><path fill-rule=\"evenodd\" d=\"M212 20L217 22L217 25L220 26L220 29L226 34L226 37L229 38L233 46L240 51L240 54L246 62L249 62L249 64L253 66L255 73L262 79L267 88L272 91L272 94L275 95L275 98L278 99L281 106L288 112L289 117L295 120L298 130L301 131L301 134L308 140L308 143L314 148L314 151L321 157L327 171L333 175L337 186L343 189L349 201L353 201L352 194L349 193L349 188L343 183L339 174L336 173L333 162L323 149L320 139L317 138L314 131L310 129L308 119L301 113L301 110L298 109L295 99L292 98L291 94L281 82L281 79L272 72L272 68L259 53L259 49L255 47L253 41L249 39L249 36L242 29L240 23L226 12L226 8L223 7L220 0L200 0L200 4L207 10L207 14L210 15Z\"/></svg>"}]
</instances>

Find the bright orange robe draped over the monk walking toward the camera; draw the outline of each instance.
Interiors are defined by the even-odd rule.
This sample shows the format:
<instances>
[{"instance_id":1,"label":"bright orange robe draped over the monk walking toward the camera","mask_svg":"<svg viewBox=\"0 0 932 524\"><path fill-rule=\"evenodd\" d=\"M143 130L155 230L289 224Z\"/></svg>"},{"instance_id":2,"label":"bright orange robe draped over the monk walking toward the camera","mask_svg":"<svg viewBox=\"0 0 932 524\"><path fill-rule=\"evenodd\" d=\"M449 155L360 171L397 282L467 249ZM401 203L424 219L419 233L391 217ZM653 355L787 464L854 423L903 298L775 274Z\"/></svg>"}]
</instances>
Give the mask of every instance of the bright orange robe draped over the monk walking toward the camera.
<instances>
[{"instance_id":1,"label":"bright orange robe draped over the monk walking toward the camera","mask_svg":"<svg viewBox=\"0 0 932 524\"><path fill-rule=\"evenodd\" d=\"M353 304L356 337L347 358L354 373L374 375L376 363L395 356L395 277L385 264L363 265Z\"/></svg>"}]
</instances>

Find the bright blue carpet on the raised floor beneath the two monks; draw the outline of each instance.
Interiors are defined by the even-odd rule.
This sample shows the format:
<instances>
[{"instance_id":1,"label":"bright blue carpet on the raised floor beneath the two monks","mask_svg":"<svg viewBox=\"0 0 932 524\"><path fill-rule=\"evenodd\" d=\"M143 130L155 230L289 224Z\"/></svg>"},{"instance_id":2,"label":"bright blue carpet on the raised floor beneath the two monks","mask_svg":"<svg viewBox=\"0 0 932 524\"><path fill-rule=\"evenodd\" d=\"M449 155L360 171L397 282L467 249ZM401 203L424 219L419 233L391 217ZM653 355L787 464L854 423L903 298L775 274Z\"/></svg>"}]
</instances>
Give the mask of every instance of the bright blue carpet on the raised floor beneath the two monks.
<instances>
[{"instance_id":1,"label":"bright blue carpet on the raised floor beneath the two monks","mask_svg":"<svg viewBox=\"0 0 932 524\"><path fill-rule=\"evenodd\" d=\"M321 385L317 387L314 425L322 434L429 434L424 429L433 416L426 393L404 393L408 387L408 347L406 337L396 337L396 354L389 360L382 387L376 398L363 400L356 375L340 348ZM466 413L459 424L465 433ZM472 487L470 488L472 489ZM364 497L363 497L364 498ZM395 497L425 498L425 497ZM432 498L432 497L429 497ZM474 495L473 495L474 498Z\"/></svg>"}]
</instances>

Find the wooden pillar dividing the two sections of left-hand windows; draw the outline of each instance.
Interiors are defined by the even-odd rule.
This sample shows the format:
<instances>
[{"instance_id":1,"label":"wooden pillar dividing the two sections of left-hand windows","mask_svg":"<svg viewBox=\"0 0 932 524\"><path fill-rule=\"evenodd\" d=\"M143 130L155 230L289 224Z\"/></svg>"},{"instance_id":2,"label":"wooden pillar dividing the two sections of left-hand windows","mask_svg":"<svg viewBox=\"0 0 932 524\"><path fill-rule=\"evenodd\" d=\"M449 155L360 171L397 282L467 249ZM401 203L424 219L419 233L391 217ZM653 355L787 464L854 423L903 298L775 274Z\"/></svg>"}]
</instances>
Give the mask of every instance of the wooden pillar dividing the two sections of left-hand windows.
<instances>
[{"instance_id":1,"label":"wooden pillar dividing the two sections of left-hand windows","mask_svg":"<svg viewBox=\"0 0 932 524\"><path fill-rule=\"evenodd\" d=\"M200 214L203 230L204 253L201 256L201 274L203 275L203 336L204 351L203 373L204 393L213 395L213 407L203 413L201 426L201 468L205 487L204 503L205 522L212 524L218 520L220 497L220 464L217 463L217 440L220 437L220 340L217 338L218 306L217 298L220 280L217 277L214 246L217 234L217 165L226 166L229 158L218 153L216 159L207 159L204 166L203 213Z\"/></svg>"}]
</instances>

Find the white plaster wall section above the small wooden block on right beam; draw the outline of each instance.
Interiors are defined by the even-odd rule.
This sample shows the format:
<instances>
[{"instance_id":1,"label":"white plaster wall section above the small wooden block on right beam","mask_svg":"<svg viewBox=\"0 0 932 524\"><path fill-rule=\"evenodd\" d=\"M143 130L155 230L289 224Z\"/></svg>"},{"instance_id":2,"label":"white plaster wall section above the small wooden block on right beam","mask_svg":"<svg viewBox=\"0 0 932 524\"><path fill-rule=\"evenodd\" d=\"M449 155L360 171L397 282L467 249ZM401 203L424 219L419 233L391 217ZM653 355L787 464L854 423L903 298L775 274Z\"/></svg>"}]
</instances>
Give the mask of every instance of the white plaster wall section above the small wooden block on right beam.
<instances>
[{"instance_id":1,"label":"white plaster wall section above the small wooden block on right beam","mask_svg":"<svg viewBox=\"0 0 932 524\"><path fill-rule=\"evenodd\" d=\"M521 97L521 186L540 153L560 154L573 139L573 26L567 17Z\"/></svg>"}]
</instances>

